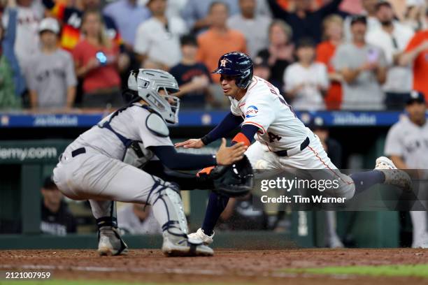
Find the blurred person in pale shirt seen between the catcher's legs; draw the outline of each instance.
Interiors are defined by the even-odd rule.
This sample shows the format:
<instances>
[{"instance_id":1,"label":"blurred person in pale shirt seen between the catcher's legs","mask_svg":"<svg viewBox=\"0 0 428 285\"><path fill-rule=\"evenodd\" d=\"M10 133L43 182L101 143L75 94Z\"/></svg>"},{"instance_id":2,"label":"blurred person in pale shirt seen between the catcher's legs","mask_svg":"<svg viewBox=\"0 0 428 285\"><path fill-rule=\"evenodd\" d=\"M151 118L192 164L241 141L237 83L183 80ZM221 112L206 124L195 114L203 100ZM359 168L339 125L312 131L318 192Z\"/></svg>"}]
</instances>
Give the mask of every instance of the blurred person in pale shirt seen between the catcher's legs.
<instances>
[{"instance_id":1,"label":"blurred person in pale shirt seen between the catcher's legs","mask_svg":"<svg viewBox=\"0 0 428 285\"><path fill-rule=\"evenodd\" d=\"M162 229L146 204L127 204L117 210L117 225L131 235L161 234Z\"/></svg>"}]
</instances>

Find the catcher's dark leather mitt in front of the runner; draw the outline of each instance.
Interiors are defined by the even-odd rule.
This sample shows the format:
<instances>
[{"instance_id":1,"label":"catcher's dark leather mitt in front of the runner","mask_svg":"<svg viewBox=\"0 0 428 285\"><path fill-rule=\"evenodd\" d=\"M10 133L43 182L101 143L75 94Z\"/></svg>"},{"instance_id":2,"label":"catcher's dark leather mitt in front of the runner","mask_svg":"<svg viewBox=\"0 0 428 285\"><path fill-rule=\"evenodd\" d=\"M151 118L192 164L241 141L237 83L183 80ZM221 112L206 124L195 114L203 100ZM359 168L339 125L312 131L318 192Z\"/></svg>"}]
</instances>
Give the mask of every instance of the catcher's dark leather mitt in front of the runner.
<instances>
[{"instance_id":1,"label":"catcher's dark leather mitt in front of the runner","mask_svg":"<svg viewBox=\"0 0 428 285\"><path fill-rule=\"evenodd\" d=\"M243 196L252 189L252 167L247 156L230 166L215 166L211 172L200 172L214 184L213 191L227 196Z\"/></svg>"}]
</instances>

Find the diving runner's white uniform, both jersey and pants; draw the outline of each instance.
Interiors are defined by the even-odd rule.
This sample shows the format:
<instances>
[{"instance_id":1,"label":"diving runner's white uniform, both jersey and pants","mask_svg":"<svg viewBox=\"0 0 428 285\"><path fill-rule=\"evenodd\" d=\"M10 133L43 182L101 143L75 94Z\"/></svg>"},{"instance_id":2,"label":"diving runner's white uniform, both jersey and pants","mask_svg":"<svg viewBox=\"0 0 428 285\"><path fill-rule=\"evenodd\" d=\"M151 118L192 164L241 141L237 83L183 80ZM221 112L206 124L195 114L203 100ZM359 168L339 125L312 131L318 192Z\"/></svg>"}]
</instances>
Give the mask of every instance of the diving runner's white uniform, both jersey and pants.
<instances>
[{"instance_id":1,"label":"diving runner's white uniform, both jersey and pants","mask_svg":"<svg viewBox=\"0 0 428 285\"><path fill-rule=\"evenodd\" d=\"M352 198L355 184L348 175L344 175L331 163L322 148L320 139L294 115L290 105L271 83L254 76L247 93L241 100L230 98L231 112L243 117L243 125L252 124L259 127L255 135L256 142L248 147L248 156L255 169L327 169L320 173L313 172L315 179L339 179L341 187L327 190L332 197ZM309 145L297 154L278 156L274 152L298 147L306 138ZM327 175L327 176L326 176Z\"/></svg>"}]
</instances>

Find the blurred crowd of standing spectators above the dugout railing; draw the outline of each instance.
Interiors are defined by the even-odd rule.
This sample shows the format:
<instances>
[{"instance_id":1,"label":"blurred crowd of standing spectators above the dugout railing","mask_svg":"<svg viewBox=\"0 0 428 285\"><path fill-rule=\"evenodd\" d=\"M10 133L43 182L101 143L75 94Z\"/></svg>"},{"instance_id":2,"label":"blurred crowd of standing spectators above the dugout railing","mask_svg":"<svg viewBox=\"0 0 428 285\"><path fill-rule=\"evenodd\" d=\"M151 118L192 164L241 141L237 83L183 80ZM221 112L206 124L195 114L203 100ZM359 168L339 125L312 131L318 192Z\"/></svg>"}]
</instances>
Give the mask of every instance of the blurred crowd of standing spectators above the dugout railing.
<instances>
[{"instance_id":1,"label":"blurred crowd of standing spectators above the dugout railing","mask_svg":"<svg viewBox=\"0 0 428 285\"><path fill-rule=\"evenodd\" d=\"M132 68L226 108L218 58L245 52L296 110L401 110L428 96L426 0L6 0L0 108L110 108Z\"/></svg>"}]
</instances>

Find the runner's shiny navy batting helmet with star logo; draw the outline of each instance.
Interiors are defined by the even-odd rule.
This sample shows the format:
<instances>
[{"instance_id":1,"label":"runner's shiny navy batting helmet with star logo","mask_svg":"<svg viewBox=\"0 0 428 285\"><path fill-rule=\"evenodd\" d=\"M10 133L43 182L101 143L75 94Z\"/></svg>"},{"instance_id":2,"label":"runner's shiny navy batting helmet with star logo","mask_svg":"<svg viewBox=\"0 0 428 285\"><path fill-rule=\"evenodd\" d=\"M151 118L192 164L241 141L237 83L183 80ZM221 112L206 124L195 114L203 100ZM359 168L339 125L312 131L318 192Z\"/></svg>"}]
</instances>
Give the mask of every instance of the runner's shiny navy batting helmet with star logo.
<instances>
[{"instance_id":1,"label":"runner's shiny navy batting helmet with star logo","mask_svg":"<svg viewBox=\"0 0 428 285\"><path fill-rule=\"evenodd\" d=\"M243 52L228 52L220 57L213 73L236 76L236 86L245 89L252 80L252 60Z\"/></svg>"}]
</instances>

